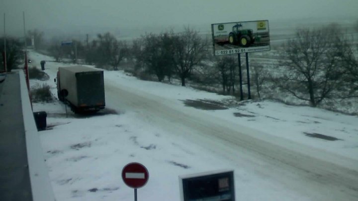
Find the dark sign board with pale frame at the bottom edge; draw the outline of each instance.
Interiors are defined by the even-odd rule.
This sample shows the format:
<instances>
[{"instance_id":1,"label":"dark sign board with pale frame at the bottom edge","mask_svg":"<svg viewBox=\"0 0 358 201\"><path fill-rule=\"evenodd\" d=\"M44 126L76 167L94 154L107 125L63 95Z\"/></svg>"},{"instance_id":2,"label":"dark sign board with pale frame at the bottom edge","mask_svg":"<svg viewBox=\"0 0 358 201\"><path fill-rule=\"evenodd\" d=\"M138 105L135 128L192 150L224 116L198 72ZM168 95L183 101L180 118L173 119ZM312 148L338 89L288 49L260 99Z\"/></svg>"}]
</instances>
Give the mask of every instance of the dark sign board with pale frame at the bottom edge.
<instances>
[{"instance_id":1,"label":"dark sign board with pale frame at the bottom edge","mask_svg":"<svg viewBox=\"0 0 358 201\"><path fill-rule=\"evenodd\" d=\"M179 176L181 201L235 201L234 171Z\"/></svg>"}]
</instances>

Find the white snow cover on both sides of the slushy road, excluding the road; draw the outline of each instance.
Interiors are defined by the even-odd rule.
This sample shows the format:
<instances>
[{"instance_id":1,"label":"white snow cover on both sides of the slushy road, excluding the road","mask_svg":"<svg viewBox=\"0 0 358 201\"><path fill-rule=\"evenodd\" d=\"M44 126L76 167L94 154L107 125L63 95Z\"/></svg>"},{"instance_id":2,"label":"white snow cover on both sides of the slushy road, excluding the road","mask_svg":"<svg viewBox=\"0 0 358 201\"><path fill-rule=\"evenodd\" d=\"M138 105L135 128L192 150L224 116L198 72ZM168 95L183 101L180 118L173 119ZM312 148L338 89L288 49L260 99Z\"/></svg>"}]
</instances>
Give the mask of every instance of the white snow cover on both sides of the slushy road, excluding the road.
<instances>
[{"instance_id":1,"label":"white snow cover on both sides of the slushy road, excluding the road","mask_svg":"<svg viewBox=\"0 0 358 201\"><path fill-rule=\"evenodd\" d=\"M54 63L52 58L35 52L30 52L29 57L32 60L30 66L38 68L40 61L45 60L45 72L50 76L47 81L30 80L31 87L47 83L56 97L53 79L57 67L65 65ZM128 90L160 97L187 114L215 116L262 131L268 140L271 136L284 138L358 161L357 116L271 101L246 101L226 110L202 111L185 106L183 100L234 100L190 87L142 81L123 71L105 71L104 76L107 85L121 85ZM48 129L39 135L58 201L133 200L133 190L121 179L122 168L129 162L142 163L149 170L149 182L138 190L139 201L179 201L179 175L219 169L235 171L237 200L320 200L309 194L302 195L287 184L270 180L267 175L250 170L246 165L232 162L188 141L185 133L193 131L183 128L183 136L170 134L138 118L138 113L131 108L116 110L108 106L98 115L79 116L69 112L66 118L65 106L56 99L52 103L34 103L33 111L46 111L48 114ZM337 140L312 135L331 136Z\"/></svg>"}]
</instances>

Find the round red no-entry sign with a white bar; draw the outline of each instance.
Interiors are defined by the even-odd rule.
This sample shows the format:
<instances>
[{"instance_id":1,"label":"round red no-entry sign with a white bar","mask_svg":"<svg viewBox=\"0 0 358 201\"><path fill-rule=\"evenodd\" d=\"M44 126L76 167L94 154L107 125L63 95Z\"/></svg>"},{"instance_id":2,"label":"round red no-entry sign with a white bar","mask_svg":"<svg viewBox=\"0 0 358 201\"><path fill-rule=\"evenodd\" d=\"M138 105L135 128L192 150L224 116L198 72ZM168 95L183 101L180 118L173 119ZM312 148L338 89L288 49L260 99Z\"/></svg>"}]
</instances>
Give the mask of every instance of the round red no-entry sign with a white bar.
<instances>
[{"instance_id":1,"label":"round red no-entry sign with a white bar","mask_svg":"<svg viewBox=\"0 0 358 201\"><path fill-rule=\"evenodd\" d=\"M140 163L129 163L122 170L123 182L133 189L143 187L148 182L148 178L147 168Z\"/></svg>"}]
</instances>

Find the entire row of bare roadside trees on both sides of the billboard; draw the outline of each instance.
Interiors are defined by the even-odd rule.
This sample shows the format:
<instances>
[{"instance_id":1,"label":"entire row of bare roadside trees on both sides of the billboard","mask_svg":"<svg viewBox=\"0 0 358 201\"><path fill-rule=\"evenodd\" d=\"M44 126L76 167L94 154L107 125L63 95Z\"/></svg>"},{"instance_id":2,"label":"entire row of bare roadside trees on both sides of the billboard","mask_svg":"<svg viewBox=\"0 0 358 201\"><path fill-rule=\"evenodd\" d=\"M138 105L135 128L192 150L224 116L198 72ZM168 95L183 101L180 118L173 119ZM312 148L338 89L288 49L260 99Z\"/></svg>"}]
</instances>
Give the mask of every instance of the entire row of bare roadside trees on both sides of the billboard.
<instances>
[{"instance_id":1,"label":"entire row of bare roadside trees on both sides of the billboard","mask_svg":"<svg viewBox=\"0 0 358 201\"><path fill-rule=\"evenodd\" d=\"M213 59L207 38L190 28L181 33L147 33L131 46L110 33L98 34L87 46L79 44L82 57L97 67L117 70L123 60L131 60L135 70L153 74L158 81L176 77L185 86L185 80L192 76L205 85L221 85L224 94L235 94L236 57ZM63 47L58 49L64 52ZM314 107L326 99L358 97L357 51L351 37L338 25L298 29L280 49L276 69L251 62L251 83L258 97L267 97L264 86L269 85L271 90L289 93Z\"/></svg>"}]
</instances>

